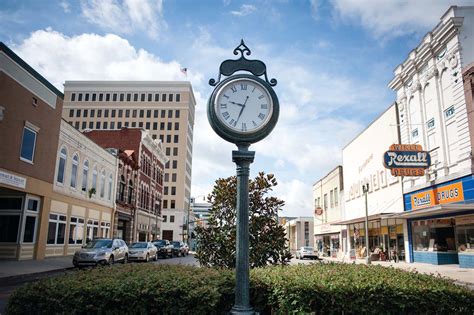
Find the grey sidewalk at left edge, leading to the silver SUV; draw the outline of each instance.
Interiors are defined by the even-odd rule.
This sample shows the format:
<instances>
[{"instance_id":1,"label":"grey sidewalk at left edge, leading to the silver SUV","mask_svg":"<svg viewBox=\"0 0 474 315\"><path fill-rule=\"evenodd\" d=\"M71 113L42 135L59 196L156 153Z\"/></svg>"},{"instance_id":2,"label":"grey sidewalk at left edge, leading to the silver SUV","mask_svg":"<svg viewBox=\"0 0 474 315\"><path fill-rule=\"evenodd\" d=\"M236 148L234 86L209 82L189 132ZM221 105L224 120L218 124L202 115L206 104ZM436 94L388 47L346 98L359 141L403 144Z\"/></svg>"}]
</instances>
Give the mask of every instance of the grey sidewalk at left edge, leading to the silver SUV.
<instances>
[{"instance_id":1,"label":"grey sidewalk at left edge, leading to the silver SUV","mask_svg":"<svg viewBox=\"0 0 474 315\"><path fill-rule=\"evenodd\" d=\"M31 276L49 271L73 268L72 256L45 258L44 260L0 260L0 282L18 276Z\"/></svg>"}]
</instances>

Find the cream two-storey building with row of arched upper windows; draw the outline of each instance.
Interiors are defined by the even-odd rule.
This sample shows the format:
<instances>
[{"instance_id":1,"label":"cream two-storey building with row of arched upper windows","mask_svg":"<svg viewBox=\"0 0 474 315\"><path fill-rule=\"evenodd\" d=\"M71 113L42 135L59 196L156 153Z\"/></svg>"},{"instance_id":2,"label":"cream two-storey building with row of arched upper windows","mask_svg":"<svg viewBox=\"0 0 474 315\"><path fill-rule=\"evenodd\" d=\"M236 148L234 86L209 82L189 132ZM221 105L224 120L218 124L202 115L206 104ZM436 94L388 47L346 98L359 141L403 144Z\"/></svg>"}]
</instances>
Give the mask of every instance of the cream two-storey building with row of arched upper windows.
<instances>
[{"instance_id":1,"label":"cream two-storey building with row of arched upper windows","mask_svg":"<svg viewBox=\"0 0 474 315\"><path fill-rule=\"evenodd\" d=\"M95 238L112 237L118 162L61 120L45 256L73 255Z\"/></svg>"}]
</instances>

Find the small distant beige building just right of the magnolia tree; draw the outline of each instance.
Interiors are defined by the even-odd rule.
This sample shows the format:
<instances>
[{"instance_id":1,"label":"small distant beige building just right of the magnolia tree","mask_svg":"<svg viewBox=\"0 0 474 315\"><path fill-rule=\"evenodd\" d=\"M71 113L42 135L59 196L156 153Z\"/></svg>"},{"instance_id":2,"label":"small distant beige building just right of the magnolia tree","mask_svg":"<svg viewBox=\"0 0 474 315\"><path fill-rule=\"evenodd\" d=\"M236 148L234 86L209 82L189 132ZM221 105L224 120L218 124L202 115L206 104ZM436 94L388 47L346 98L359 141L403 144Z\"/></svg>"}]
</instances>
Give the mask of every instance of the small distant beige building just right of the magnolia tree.
<instances>
[{"instance_id":1,"label":"small distant beige building just right of the magnolia tree","mask_svg":"<svg viewBox=\"0 0 474 315\"><path fill-rule=\"evenodd\" d=\"M295 253L303 246L314 246L313 217L281 218L280 223L285 228L290 252Z\"/></svg>"}]
</instances>

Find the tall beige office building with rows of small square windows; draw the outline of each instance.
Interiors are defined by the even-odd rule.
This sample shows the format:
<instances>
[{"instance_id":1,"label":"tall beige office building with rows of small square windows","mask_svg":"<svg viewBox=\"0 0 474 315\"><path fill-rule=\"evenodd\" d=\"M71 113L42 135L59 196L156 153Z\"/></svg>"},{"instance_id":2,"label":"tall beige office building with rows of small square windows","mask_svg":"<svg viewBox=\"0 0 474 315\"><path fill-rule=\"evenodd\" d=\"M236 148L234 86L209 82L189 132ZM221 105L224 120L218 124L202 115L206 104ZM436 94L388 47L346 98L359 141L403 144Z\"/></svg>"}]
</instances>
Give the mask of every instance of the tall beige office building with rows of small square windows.
<instances>
[{"instance_id":1,"label":"tall beige office building with rows of small square windows","mask_svg":"<svg viewBox=\"0 0 474 315\"><path fill-rule=\"evenodd\" d=\"M160 139L165 165L162 215L164 239L186 238L191 196L194 107L189 82L66 81L63 118L77 129L143 128Z\"/></svg>"}]
</instances>

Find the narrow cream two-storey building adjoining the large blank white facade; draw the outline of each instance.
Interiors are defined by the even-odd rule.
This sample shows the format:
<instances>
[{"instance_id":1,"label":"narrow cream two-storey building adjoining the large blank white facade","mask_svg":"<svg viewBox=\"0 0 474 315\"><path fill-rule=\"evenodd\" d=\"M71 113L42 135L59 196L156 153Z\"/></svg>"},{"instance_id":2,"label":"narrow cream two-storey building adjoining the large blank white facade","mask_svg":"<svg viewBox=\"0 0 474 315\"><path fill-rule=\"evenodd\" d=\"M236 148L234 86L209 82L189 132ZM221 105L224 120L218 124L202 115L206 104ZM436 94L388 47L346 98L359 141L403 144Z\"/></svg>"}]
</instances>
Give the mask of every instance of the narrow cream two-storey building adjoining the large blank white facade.
<instances>
[{"instance_id":1,"label":"narrow cream two-storey building adjoining the large blank white facade","mask_svg":"<svg viewBox=\"0 0 474 315\"><path fill-rule=\"evenodd\" d=\"M340 165L313 185L314 240L316 249L324 256L337 257L338 252L344 252L347 231L334 225L342 219L343 189Z\"/></svg>"}]
</instances>

